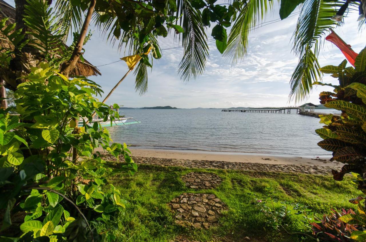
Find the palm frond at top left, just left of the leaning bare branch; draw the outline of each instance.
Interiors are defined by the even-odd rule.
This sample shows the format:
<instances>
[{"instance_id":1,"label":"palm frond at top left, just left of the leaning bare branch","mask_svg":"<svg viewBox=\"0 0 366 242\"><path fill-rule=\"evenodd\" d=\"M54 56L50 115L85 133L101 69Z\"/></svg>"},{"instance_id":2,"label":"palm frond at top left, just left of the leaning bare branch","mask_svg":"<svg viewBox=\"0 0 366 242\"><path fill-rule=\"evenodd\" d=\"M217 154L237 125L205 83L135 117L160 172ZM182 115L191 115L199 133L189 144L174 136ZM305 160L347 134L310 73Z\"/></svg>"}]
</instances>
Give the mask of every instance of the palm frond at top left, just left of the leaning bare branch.
<instances>
[{"instance_id":1,"label":"palm frond at top left, just left of the leaning bare branch","mask_svg":"<svg viewBox=\"0 0 366 242\"><path fill-rule=\"evenodd\" d=\"M72 1L56 0L53 15L57 16L53 30L63 35L62 41L66 43L72 29L80 29L83 24L83 11L80 6L72 5Z\"/></svg>"}]
</instances>

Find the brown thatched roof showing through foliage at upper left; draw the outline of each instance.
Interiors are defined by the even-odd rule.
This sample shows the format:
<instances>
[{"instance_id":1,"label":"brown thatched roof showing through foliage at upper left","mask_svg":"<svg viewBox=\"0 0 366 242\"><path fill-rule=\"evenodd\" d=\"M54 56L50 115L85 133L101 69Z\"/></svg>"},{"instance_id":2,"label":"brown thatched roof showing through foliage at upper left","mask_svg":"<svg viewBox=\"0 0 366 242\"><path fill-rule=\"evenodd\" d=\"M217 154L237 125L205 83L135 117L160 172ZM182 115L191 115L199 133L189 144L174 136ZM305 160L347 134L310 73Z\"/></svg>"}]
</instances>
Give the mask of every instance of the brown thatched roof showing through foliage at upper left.
<instances>
[{"instance_id":1,"label":"brown thatched roof showing through foliage at upper left","mask_svg":"<svg viewBox=\"0 0 366 242\"><path fill-rule=\"evenodd\" d=\"M7 4L5 1L0 0L0 19L9 18L7 24L15 22L15 8ZM4 48L11 48L12 46L7 41L0 39L0 46ZM97 76L102 75L98 68L90 64L89 61L85 60L84 63L79 60L76 63L76 67L72 69L69 76Z\"/></svg>"}]
</instances>

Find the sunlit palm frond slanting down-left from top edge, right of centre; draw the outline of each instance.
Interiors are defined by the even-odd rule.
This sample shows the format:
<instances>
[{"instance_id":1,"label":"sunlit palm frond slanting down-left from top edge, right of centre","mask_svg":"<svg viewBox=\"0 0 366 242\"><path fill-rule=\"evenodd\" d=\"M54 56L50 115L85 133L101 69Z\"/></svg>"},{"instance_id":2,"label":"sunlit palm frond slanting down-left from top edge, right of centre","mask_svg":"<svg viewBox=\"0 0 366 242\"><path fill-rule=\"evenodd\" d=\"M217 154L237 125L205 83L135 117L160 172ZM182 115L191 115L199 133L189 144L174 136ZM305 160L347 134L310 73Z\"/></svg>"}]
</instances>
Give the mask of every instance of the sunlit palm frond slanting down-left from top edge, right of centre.
<instances>
[{"instance_id":1,"label":"sunlit palm frond slanting down-left from top edge, right of centre","mask_svg":"<svg viewBox=\"0 0 366 242\"><path fill-rule=\"evenodd\" d=\"M262 20L267 11L272 8L272 1L249 0L243 3L242 10L229 33L227 48L224 52L224 57L231 59L233 65L247 54L248 35L251 27Z\"/></svg>"}]
</instances>

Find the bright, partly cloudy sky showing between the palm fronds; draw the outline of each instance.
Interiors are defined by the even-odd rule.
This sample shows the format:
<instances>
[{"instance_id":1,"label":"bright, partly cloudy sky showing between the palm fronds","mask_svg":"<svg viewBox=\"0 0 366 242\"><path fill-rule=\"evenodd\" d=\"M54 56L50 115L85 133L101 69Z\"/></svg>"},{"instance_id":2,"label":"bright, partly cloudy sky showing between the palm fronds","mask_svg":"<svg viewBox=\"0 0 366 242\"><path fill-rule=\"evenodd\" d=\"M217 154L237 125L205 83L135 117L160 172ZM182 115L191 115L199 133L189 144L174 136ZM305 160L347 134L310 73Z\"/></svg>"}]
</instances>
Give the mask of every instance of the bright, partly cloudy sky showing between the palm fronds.
<instances>
[{"instance_id":1,"label":"bright, partly cloudy sky showing between the palm fronds","mask_svg":"<svg viewBox=\"0 0 366 242\"><path fill-rule=\"evenodd\" d=\"M13 0L5 1L14 6ZM263 21L279 19L278 12L279 7L276 5L273 13L269 13ZM148 90L145 94L139 95L135 92L135 77L131 72L109 97L107 103L117 103L125 107L169 105L178 108L280 107L301 105L305 102L318 104L319 92L331 91L332 88L315 87L306 101L289 101L289 82L298 63L298 57L291 52L291 37L297 17L298 15L294 14L282 21L267 25L265 23L263 27L252 31L249 35L247 57L234 66L222 57L214 41L209 42L210 57L206 63L206 71L189 82L183 82L178 74L183 48L163 50L162 58L154 60L152 70L148 70ZM348 15L345 24L338 27L336 33L359 53L366 43L365 31L358 31L357 17L358 14ZM91 29L94 29L93 26ZM206 33L208 39L212 39L210 29ZM158 38L158 41L161 49L180 46L172 35ZM123 50L119 52L117 46L113 47L97 30L94 30L84 48L84 58L95 66L117 61L124 56ZM325 41L319 56L320 66L339 65L343 60L344 56L340 50ZM98 69L102 75L89 78L102 86L105 95L128 71L123 61ZM323 82L336 84L336 79L326 75Z\"/></svg>"}]
</instances>

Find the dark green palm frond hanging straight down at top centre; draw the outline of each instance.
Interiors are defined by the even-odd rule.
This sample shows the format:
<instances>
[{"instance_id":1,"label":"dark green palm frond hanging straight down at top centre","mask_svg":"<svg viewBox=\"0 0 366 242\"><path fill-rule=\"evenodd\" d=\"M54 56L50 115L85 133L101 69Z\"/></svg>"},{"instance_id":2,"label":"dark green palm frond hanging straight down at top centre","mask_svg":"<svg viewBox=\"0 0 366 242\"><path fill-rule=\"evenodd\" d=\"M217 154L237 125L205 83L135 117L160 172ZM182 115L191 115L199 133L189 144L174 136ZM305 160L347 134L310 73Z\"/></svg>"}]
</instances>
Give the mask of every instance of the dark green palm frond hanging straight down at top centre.
<instances>
[{"instance_id":1,"label":"dark green palm frond hanging straight down at top centre","mask_svg":"<svg viewBox=\"0 0 366 242\"><path fill-rule=\"evenodd\" d=\"M188 81L195 79L205 71L209 48L206 43L207 36L202 24L201 13L191 6L189 0L182 0L181 6L184 50L178 72L181 79Z\"/></svg>"}]
</instances>

